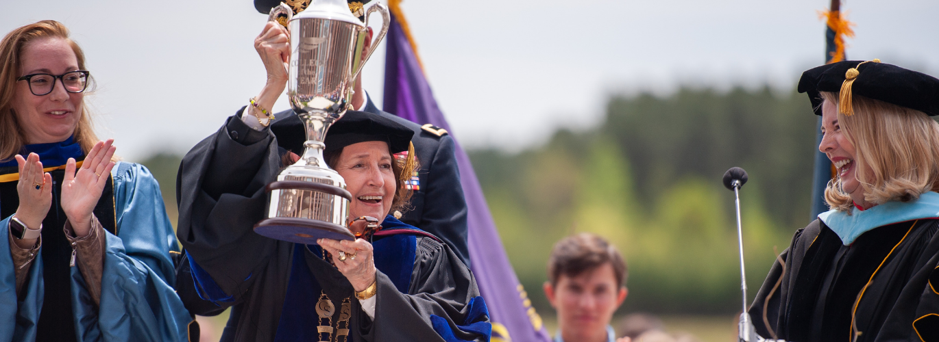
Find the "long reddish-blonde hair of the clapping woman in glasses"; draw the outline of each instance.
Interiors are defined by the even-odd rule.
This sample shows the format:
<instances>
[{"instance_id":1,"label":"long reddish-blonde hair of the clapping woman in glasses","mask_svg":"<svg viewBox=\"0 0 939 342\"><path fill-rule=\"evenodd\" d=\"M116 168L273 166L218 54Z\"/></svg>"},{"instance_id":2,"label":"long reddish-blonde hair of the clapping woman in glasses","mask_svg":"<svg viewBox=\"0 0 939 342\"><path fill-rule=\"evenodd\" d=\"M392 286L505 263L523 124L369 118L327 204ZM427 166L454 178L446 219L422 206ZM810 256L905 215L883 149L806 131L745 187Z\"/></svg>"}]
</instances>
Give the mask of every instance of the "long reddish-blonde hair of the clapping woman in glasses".
<instances>
[{"instance_id":1,"label":"long reddish-blonde hair of the clapping woman in glasses","mask_svg":"<svg viewBox=\"0 0 939 342\"><path fill-rule=\"evenodd\" d=\"M20 76L20 66L22 65L21 54L26 44L48 37L65 39L72 52L75 52L75 58L78 60L78 68L85 70L85 53L82 48L69 38L69 29L61 22L41 21L30 23L17 28L7 34L3 40L0 40L0 161L6 161L14 155L23 152L23 145L26 144L26 137L21 129L21 124L17 122L16 115L13 112L13 98L16 96L16 79ZM89 80L94 84L93 80ZM89 85L89 93L94 89ZM78 126L72 133L74 141L82 146L85 154L98 142L98 137L92 128L91 115L82 101L79 108ZM116 156L115 156L116 158Z\"/></svg>"}]
</instances>

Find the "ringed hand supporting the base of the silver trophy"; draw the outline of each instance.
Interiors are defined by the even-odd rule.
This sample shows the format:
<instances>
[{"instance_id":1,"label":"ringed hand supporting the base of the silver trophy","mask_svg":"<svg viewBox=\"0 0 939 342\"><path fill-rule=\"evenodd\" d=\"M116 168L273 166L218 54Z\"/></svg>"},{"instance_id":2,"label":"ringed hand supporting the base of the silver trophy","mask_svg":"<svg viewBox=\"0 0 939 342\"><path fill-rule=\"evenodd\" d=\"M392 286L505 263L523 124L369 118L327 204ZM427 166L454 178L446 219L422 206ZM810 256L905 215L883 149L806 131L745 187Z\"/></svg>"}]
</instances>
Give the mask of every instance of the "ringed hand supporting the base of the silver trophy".
<instances>
[{"instance_id":1,"label":"ringed hand supporting the base of the silver trophy","mask_svg":"<svg viewBox=\"0 0 939 342\"><path fill-rule=\"evenodd\" d=\"M336 241L332 239L319 239L316 241L323 249L332 254L332 262L336 264L352 288L357 291L368 289L375 282L375 259L372 254L372 244L362 239L356 241ZM346 258L340 255L342 251ZM343 260L345 259L345 260Z\"/></svg>"}]
</instances>

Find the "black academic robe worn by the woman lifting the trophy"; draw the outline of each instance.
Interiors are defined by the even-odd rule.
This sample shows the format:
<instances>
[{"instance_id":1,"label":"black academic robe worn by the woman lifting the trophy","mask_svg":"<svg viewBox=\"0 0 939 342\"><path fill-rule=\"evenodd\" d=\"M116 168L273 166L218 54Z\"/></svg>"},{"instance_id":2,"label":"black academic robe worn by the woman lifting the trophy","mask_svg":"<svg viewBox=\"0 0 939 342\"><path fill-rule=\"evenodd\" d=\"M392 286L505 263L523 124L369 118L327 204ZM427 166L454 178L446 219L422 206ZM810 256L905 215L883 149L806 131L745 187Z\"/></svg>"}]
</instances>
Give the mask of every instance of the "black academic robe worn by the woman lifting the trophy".
<instances>
[{"instance_id":1,"label":"black academic robe worn by the woman lifting the trophy","mask_svg":"<svg viewBox=\"0 0 939 342\"><path fill-rule=\"evenodd\" d=\"M213 304L232 307L222 340L272 341L295 244L254 233L254 223L266 214L269 196L264 187L281 170L281 152L269 128L256 131L239 115L229 117L183 158L177 177L177 236L193 264L228 297ZM468 304L479 296L474 277L448 246L424 240L421 245L428 247L417 248L408 293L397 290L379 271L376 319L369 319L358 300L352 300L354 341L442 341L431 315L447 321L457 337L474 338L457 328L466 323ZM345 277L325 261L312 254L306 260L324 290L342 290L332 299L351 295ZM191 309L207 307L191 293L180 296Z\"/></svg>"}]
</instances>

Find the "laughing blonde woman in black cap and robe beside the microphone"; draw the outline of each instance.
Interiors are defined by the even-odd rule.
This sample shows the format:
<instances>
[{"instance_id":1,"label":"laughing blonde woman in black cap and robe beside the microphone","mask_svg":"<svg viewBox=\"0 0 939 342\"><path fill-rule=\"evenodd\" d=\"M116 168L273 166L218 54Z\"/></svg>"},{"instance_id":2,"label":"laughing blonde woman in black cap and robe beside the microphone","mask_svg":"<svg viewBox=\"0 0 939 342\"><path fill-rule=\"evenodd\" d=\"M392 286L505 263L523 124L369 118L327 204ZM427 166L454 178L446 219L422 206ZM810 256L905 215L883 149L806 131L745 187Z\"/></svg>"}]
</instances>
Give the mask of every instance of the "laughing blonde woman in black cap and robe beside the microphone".
<instances>
[{"instance_id":1,"label":"laughing blonde woman in black cap and robe beside the microphone","mask_svg":"<svg viewBox=\"0 0 939 342\"><path fill-rule=\"evenodd\" d=\"M879 60L806 71L832 210L798 230L749 309L788 341L939 340L939 80Z\"/></svg>"}]
</instances>

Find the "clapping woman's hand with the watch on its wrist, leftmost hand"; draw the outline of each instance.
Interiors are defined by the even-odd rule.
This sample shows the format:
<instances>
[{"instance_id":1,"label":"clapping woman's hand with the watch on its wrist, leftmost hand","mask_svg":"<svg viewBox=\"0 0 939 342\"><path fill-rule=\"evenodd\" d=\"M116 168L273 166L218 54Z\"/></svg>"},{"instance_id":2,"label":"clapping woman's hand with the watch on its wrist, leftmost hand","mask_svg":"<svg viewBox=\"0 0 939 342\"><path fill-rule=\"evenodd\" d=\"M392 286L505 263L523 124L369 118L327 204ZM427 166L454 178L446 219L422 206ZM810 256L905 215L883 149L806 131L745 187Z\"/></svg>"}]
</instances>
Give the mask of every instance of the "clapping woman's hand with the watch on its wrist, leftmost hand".
<instances>
[{"instance_id":1,"label":"clapping woman's hand with the watch on its wrist, leftmost hand","mask_svg":"<svg viewBox=\"0 0 939 342\"><path fill-rule=\"evenodd\" d=\"M16 163L20 169L20 182L16 185L20 206L16 208L16 218L29 229L38 230L53 204L53 176L42 172L42 163L35 153L25 159L16 155ZM18 241L17 245L28 248L36 245L36 239Z\"/></svg>"}]
</instances>

